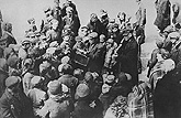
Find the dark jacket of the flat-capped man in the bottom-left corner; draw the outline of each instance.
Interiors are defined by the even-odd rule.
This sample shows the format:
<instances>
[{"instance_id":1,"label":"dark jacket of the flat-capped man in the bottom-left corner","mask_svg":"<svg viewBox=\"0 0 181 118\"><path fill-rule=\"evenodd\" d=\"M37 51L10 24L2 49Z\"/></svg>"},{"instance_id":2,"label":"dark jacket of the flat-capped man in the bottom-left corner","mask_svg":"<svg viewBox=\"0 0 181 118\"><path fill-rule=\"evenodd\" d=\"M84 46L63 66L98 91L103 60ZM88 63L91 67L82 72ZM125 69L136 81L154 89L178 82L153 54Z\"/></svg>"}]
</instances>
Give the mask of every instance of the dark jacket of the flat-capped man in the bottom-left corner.
<instances>
[{"instance_id":1,"label":"dark jacket of the flat-capped man in the bottom-left corner","mask_svg":"<svg viewBox=\"0 0 181 118\"><path fill-rule=\"evenodd\" d=\"M1 118L33 118L33 107L23 93L13 96L7 89L0 98Z\"/></svg>"}]
</instances>

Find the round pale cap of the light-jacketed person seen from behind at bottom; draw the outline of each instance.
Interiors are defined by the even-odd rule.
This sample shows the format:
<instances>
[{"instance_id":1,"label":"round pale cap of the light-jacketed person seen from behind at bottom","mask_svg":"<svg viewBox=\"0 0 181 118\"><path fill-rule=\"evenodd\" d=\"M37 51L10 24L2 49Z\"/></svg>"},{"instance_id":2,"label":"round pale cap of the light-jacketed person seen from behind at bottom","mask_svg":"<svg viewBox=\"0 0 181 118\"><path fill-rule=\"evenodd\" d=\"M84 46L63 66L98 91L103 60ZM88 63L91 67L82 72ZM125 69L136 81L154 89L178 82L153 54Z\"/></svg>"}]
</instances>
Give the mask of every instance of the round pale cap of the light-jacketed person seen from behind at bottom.
<instances>
[{"instance_id":1,"label":"round pale cap of the light-jacketed person seen from behind at bottom","mask_svg":"<svg viewBox=\"0 0 181 118\"><path fill-rule=\"evenodd\" d=\"M47 87L48 87L48 92L52 95L58 95L58 94L61 94L63 92L61 84L58 81L49 82Z\"/></svg>"}]
</instances>

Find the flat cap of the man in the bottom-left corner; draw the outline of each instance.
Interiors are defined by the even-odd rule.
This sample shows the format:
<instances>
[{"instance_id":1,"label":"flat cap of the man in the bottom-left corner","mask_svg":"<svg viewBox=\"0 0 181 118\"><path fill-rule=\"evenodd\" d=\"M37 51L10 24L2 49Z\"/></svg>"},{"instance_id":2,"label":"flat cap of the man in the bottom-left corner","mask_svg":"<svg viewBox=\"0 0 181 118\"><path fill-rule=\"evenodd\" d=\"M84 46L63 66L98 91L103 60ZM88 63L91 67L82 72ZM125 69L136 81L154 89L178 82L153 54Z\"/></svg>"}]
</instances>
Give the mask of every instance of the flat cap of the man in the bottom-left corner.
<instances>
[{"instance_id":1,"label":"flat cap of the man in the bottom-left corner","mask_svg":"<svg viewBox=\"0 0 181 118\"><path fill-rule=\"evenodd\" d=\"M15 84L18 84L20 82L21 82L21 78L20 77L18 77L18 76L9 76L5 79L5 86L7 87L11 87L11 86L14 86Z\"/></svg>"}]
</instances>

